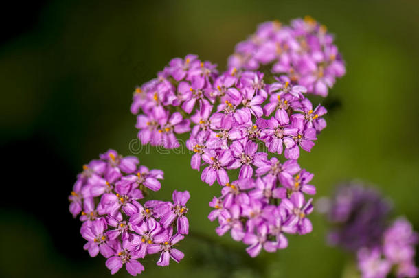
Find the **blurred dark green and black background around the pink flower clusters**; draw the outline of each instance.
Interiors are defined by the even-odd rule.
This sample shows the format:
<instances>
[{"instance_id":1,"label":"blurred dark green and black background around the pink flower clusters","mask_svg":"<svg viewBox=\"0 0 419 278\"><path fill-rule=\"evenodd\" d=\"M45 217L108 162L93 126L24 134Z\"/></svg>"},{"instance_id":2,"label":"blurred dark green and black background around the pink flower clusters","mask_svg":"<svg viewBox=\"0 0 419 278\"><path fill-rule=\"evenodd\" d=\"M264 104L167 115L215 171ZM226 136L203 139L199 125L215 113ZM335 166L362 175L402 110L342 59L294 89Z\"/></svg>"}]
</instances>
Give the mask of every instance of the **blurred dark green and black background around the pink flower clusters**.
<instances>
[{"instance_id":1,"label":"blurred dark green and black background around the pink flower clusters","mask_svg":"<svg viewBox=\"0 0 419 278\"><path fill-rule=\"evenodd\" d=\"M380 187L419 230L419 2L401 1L14 1L2 7L0 277L109 277L105 259L82 250L67 195L81 165L108 148L130 154L136 137L131 93L171 58L218 63L262 21L310 14L336 34L347 63L311 154L319 196L361 178ZM290 236L278 253L250 259L229 235L218 238L189 154L145 149L141 163L165 170L156 198L188 189L192 235L185 259L168 268L146 259L142 277L356 277L350 256L326 246L326 227ZM159 275L159 276L157 276ZM125 270L115 277L128 277Z\"/></svg>"}]
</instances>

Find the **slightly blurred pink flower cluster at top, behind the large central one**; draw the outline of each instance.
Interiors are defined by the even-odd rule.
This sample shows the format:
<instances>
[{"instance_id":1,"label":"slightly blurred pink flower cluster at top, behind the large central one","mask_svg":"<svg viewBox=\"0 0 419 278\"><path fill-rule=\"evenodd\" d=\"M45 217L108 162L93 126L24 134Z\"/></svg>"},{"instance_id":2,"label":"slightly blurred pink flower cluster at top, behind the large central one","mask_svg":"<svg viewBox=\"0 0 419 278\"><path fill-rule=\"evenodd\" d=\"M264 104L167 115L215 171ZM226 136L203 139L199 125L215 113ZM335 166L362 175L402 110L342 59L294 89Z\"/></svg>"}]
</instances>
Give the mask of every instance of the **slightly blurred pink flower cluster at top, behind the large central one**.
<instances>
[{"instance_id":1,"label":"slightly blurred pink flower cluster at top, behind the large central one","mask_svg":"<svg viewBox=\"0 0 419 278\"><path fill-rule=\"evenodd\" d=\"M345 74L333 36L310 16L294 19L291 26L279 21L262 23L248 40L236 45L228 65L252 71L267 66L271 73L286 74L308 93L323 97L336 78Z\"/></svg>"}]
</instances>

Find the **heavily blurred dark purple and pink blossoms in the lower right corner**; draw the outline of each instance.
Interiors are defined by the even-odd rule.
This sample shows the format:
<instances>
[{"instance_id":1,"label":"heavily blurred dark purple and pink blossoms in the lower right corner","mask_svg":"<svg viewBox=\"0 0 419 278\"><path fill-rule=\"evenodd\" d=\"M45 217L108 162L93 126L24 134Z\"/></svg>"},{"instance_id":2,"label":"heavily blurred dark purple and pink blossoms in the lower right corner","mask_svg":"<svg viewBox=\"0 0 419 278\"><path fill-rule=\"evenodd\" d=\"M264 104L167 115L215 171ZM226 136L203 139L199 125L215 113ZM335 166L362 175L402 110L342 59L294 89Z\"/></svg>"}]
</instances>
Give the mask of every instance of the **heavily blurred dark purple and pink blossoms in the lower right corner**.
<instances>
[{"instance_id":1,"label":"heavily blurred dark purple and pink blossoms in the lower right corner","mask_svg":"<svg viewBox=\"0 0 419 278\"><path fill-rule=\"evenodd\" d=\"M418 277L418 234L405 218L388 224L389 203L378 192L350 183L329 202L328 220L335 225L330 243L356 253L363 278Z\"/></svg>"}]
</instances>

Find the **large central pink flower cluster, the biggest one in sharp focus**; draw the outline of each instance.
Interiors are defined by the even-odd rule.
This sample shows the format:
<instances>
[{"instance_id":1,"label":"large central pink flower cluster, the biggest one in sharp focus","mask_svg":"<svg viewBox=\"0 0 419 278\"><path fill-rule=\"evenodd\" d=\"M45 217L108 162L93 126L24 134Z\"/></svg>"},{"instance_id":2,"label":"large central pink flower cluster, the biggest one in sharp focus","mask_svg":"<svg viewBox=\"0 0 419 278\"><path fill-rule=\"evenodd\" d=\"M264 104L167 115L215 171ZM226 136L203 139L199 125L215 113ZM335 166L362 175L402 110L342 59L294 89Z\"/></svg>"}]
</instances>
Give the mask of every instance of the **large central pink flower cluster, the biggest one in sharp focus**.
<instances>
[{"instance_id":1,"label":"large central pink flower cluster, the biggest one in sharp focus","mask_svg":"<svg viewBox=\"0 0 419 278\"><path fill-rule=\"evenodd\" d=\"M217 181L223 187L210 203L217 209L210 219L218 219L219 234L234 222L233 238L249 244L249 254L256 256L260 246L286 247L282 231L312 230L306 216L313 206L304 194L315 194L308 184L313 174L297 159L300 150L310 152L315 145L327 111L313 106L306 92L288 74L267 82L258 71L232 67L218 73L216 65L189 54L135 89L131 113L143 144L177 148L175 134L189 133L192 169L202 170L208 185Z\"/></svg>"}]
</instances>

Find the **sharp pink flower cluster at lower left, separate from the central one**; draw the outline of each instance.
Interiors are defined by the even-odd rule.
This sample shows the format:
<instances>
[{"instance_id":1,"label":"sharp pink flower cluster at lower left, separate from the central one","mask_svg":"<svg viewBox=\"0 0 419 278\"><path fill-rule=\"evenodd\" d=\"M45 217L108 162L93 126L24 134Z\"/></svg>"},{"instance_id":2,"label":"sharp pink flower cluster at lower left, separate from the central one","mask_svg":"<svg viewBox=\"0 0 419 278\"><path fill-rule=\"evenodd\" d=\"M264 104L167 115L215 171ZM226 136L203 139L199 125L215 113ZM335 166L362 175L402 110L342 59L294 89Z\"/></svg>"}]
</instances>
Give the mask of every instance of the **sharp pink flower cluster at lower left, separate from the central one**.
<instances>
[{"instance_id":1,"label":"sharp pink flower cluster at lower left, separate from the central one","mask_svg":"<svg viewBox=\"0 0 419 278\"><path fill-rule=\"evenodd\" d=\"M174 244L188 234L189 193L174 191L173 202L139 202L148 190L161 188L161 179L163 171L148 170L137 157L122 157L115 150L90 161L78 174L69 210L74 218L81 214L84 249L91 257L100 253L107 258L112 274L125 264L136 276L144 270L138 259L148 254L161 254L159 266L168 266L170 258L183 259Z\"/></svg>"}]
</instances>

